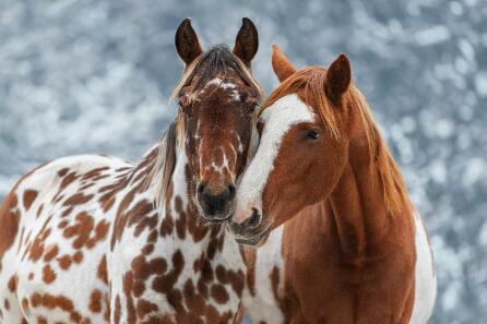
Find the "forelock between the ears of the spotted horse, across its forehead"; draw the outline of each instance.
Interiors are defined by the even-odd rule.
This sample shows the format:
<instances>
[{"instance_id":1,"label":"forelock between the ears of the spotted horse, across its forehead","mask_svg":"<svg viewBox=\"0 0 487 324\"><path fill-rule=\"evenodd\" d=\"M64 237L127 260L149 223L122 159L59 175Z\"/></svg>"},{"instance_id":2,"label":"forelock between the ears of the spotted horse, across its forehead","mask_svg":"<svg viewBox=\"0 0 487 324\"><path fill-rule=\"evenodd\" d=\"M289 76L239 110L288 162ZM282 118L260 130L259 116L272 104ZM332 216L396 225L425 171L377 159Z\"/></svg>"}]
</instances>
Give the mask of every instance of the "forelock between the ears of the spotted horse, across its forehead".
<instances>
[{"instance_id":1,"label":"forelock between the ears of the spotted horse, across its forehead","mask_svg":"<svg viewBox=\"0 0 487 324\"><path fill-rule=\"evenodd\" d=\"M198 89L201 89L209 81L216 76L225 80L231 71L235 71L247 84L257 88L259 99L263 96L262 86L253 77L250 69L243 64L227 45L218 44L200 55L187 67L170 99L174 100L181 96L181 89L193 80L197 71L201 71L201 73L198 75L197 82L191 85L190 93L195 93Z\"/></svg>"}]
</instances>

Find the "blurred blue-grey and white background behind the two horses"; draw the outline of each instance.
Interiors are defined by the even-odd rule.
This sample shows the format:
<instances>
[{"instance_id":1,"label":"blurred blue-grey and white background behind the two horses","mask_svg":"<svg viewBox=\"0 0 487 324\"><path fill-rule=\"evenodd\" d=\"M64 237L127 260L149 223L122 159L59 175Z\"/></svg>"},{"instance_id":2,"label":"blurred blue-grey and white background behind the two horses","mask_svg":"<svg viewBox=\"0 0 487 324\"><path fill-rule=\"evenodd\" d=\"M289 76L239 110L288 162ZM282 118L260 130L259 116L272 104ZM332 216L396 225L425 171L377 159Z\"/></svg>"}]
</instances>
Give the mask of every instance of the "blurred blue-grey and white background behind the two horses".
<instances>
[{"instance_id":1,"label":"blurred blue-grey and white background behind the two horses","mask_svg":"<svg viewBox=\"0 0 487 324\"><path fill-rule=\"evenodd\" d=\"M380 121L438 263L431 323L487 322L487 1L0 1L0 199L34 166L105 153L136 160L176 113L174 46L191 16L206 48L260 33L297 68L340 52Z\"/></svg>"}]
</instances>

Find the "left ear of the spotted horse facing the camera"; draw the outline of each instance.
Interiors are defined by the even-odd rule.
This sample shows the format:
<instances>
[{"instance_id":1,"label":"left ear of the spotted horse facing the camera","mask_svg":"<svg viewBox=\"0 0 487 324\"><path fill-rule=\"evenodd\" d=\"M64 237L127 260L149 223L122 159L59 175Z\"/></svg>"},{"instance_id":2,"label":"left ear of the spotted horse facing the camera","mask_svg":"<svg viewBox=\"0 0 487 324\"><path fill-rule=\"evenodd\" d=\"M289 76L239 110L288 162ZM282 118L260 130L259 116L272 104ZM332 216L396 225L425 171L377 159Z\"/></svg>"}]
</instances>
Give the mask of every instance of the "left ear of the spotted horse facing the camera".
<instances>
[{"instance_id":1,"label":"left ear of the spotted horse facing the camera","mask_svg":"<svg viewBox=\"0 0 487 324\"><path fill-rule=\"evenodd\" d=\"M185 61L186 65L191 64L203 51L197 33L191 26L191 19L188 17L179 24L176 31L175 44L178 55Z\"/></svg>"}]
</instances>

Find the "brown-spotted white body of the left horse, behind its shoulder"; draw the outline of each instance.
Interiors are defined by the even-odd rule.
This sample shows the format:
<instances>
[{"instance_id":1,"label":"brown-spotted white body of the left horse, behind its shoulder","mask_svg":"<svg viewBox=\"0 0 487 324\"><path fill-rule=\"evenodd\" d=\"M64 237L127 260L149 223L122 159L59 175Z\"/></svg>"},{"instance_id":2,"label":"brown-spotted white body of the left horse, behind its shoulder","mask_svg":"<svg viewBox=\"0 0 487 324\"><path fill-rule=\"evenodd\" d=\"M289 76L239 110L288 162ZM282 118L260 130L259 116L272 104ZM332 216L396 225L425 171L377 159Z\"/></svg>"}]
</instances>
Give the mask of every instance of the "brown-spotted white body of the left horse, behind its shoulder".
<instances>
[{"instance_id":1,"label":"brown-spotted white body of the left horse, behind its shoulder","mask_svg":"<svg viewBox=\"0 0 487 324\"><path fill-rule=\"evenodd\" d=\"M1 323L107 322L110 200L131 169L72 156L19 181L0 213Z\"/></svg>"}]
</instances>

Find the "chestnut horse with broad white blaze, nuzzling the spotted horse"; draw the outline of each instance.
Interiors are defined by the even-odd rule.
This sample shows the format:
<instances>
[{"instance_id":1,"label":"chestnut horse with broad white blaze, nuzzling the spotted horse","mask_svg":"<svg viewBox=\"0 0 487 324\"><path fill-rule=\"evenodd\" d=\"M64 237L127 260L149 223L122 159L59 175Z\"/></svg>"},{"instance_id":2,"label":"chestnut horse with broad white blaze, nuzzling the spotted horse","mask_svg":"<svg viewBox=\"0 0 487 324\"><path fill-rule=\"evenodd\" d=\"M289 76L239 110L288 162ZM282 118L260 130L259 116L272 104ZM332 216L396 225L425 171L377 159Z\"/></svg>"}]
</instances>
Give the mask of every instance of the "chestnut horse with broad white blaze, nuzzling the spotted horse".
<instances>
[{"instance_id":1,"label":"chestnut horse with broad white blaze, nuzzling the spotted horse","mask_svg":"<svg viewBox=\"0 0 487 324\"><path fill-rule=\"evenodd\" d=\"M251 316L426 323L431 250L348 59L296 71L274 47L272 65L281 85L263 105L231 220L238 242L261 245L246 251Z\"/></svg>"}]
</instances>

